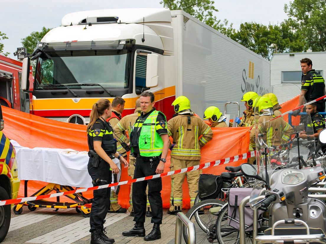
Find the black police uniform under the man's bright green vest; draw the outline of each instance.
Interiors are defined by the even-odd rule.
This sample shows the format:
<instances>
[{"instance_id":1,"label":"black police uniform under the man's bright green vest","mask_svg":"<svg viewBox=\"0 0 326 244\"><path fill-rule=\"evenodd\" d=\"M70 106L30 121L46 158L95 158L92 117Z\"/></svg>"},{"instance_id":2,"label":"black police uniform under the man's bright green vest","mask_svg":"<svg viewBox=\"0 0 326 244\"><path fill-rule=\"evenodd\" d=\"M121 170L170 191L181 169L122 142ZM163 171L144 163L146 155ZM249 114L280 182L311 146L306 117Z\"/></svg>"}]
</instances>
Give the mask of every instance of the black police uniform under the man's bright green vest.
<instances>
[{"instance_id":1,"label":"black police uniform under the man's bright green vest","mask_svg":"<svg viewBox=\"0 0 326 244\"><path fill-rule=\"evenodd\" d=\"M141 113L141 115L136 120L136 123L142 124L146 118L155 110L151 110L145 115ZM159 121L165 121L165 123L159 123ZM165 128L166 119L158 114L156 118L156 131L158 134L168 134L168 130ZM162 127L162 125L164 127ZM138 129L138 130L137 130ZM136 157L136 167L134 172L134 179L155 175L156 168L159 164L160 156L155 157L144 157L140 155L138 141L141 133L141 127L135 127L132 133L131 138L131 147L133 148L134 156ZM163 218L163 205L162 205L162 179L156 178L147 181L135 182L133 183L133 191L132 191L132 206L134 208L134 221L135 222L145 222L145 214L146 214L146 187L148 183L148 201L151 205L152 210L152 219L151 223L162 224Z\"/></svg>"}]
</instances>

